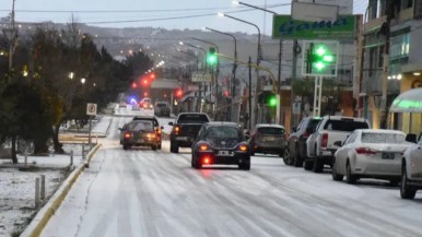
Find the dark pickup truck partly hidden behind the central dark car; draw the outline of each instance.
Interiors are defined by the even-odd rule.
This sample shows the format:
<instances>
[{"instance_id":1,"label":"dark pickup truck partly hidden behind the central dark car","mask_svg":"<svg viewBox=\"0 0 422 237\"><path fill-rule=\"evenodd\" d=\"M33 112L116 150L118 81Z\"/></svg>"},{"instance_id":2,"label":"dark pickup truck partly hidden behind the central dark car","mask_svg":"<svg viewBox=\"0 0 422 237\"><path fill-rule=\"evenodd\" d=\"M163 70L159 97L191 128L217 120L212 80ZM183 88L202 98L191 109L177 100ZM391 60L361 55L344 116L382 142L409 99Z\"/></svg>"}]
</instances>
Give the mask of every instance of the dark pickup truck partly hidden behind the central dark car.
<instances>
[{"instance_id":1,"label":"dark pickup truck partly hidden behind the central dark car","mask_svg":"<svg viewBox=\"0 0 422 237\"><path fill-rule=\"evenodd\" d=\"M178 153L179 147L191 147L198 135L201 126L209 122L210 118L204 112L180 112L169 134L169 151Z\"/></svg>"}]
</instances>

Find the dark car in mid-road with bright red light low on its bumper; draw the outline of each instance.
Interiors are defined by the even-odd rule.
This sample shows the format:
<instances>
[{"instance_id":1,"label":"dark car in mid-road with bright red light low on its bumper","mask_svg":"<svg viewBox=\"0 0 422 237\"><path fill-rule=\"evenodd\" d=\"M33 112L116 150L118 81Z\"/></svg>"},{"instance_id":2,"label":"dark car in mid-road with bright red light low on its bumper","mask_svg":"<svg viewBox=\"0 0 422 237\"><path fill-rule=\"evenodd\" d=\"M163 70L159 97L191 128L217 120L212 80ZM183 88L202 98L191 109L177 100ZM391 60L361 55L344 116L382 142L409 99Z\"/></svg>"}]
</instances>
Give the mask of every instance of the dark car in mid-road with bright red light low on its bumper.
<instances>
[{"instance_id":1,"label":"dark car in mid-road with bright red light low on its bumper","mask_svg":"<svg viewBox=\"0 0 422 237\"><path fill-rule=\"evenodd\" d=\"M191 167L215 164L250 169L248 144L238 123L207 122L201 126L192 144Z\"/></svg>"}]
</instances>

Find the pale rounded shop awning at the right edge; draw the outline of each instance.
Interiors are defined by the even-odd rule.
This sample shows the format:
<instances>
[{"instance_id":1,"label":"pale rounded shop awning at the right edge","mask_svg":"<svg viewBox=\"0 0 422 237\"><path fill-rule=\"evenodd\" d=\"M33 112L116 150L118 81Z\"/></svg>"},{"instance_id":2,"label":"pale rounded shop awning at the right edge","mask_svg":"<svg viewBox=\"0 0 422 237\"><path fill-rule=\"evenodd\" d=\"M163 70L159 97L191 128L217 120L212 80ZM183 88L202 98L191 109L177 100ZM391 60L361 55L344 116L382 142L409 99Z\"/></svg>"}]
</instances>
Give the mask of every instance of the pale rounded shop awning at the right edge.
<instances>
[{"instance_id":1,"label":"pale rounded shop awning at the right edge","mask_svg":"<svg viewBox=\"0 0 422 237\"><path fill-rule=\"evenodd\" d=\"M401 93L390 106L390 112L422 112L422 87Z\"/></svg>"}]
</instances>

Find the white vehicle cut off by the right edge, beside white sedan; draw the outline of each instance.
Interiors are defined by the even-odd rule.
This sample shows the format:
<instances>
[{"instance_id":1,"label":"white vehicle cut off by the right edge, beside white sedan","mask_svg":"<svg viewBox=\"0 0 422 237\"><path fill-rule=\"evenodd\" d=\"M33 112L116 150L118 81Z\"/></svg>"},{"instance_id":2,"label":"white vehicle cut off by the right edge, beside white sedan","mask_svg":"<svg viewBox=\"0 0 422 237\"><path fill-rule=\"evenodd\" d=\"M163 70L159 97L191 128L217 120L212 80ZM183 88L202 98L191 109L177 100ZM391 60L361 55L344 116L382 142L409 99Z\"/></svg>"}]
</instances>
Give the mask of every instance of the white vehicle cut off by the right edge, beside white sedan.
<instances>
[{"instance_id":1,"label":"white vehicle cut off by the right edge, beside white sedan","mask_svg":"<svg viewBox=\"0 0 422 237\"><path fill-rule=\"evenodd\" d=\"M418 189L422 189L422 139L410 145L401 159L401 198L414 199Z\"/></svg>"}]
</instances>

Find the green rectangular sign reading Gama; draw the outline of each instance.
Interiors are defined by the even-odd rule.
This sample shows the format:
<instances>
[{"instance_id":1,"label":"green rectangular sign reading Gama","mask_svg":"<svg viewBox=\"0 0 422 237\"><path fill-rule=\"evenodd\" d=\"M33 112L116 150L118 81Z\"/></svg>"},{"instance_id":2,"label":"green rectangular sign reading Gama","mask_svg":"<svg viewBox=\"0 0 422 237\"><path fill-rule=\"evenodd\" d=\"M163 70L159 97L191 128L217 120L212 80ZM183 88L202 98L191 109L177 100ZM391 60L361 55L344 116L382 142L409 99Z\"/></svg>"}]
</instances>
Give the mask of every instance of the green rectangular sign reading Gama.
<instances>
[{"instance_id":1,"label":"green rectangular sign reading Gama","mask_svg":"<svg viewBox=\"0 0 422 237\"><path fill-rule=\"evenodd\" d=\"M290 15L274 15L272 38L282 39L352 39L356 16L339 15L337 21L304 22Z\"/></svg>"}]
</instances>

